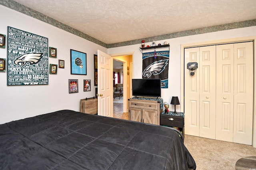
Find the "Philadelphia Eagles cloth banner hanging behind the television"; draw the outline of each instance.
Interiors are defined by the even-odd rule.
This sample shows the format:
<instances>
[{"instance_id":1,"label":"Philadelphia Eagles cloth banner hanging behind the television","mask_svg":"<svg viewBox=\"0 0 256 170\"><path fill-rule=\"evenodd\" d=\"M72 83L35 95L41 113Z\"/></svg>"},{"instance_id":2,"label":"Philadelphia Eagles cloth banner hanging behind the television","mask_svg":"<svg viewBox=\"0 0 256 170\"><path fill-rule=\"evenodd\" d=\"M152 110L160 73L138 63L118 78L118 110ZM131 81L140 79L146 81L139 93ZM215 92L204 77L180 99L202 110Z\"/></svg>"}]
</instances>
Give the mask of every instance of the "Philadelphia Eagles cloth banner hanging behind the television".
<instances>
[{"instance_id":1,"label":"Philadelphia Eagles cloth banner hanging behind the television","mask_svg":"<svg viewBox=\"0 0 256 170\"><path fill-rule=\"evenodd\" d=\"M161 79L161 87L168 88L170 51L142 53L142 79Z\"/></svg>"}]
</instances>

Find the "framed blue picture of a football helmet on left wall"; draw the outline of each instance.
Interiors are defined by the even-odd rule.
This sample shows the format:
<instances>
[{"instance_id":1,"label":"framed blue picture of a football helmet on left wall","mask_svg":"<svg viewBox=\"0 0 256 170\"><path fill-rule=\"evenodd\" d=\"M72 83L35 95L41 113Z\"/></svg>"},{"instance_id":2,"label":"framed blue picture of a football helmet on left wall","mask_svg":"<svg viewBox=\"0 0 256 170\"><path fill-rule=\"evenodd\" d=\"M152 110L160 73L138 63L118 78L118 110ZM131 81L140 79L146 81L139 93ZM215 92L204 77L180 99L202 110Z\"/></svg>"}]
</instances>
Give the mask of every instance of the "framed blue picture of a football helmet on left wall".
<instances>
[{"instance_id":1,"label":"framed blue picture of a football helmet on left wall","mask_svg":"<svg viewBox=\"0 0 256 170\"><path fill-rule=\"evenodd\" d=\"M71 74L86 75L86 53L70 49Z\"/></svg>"}]
</instances>

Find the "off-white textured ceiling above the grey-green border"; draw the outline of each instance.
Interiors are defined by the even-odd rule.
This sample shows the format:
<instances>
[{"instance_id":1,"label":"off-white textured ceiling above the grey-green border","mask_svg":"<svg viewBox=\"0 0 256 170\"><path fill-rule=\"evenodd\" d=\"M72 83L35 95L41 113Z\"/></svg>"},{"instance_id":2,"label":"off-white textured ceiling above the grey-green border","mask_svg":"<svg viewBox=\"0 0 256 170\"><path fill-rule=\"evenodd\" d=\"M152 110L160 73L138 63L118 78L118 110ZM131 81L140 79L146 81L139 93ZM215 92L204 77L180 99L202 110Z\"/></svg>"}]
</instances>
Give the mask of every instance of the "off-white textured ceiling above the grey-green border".
<instances>
[{"instance_id":1,"label":"off-white textured ceiling above the grey-green border","mask_svg":"<svg viewBox=\"0 0 256 170\"><path fill-rule=\"evenodd\" d=\"M256 0L14 0L106 44L256 19Z\"/></svg>"}]
</instances>

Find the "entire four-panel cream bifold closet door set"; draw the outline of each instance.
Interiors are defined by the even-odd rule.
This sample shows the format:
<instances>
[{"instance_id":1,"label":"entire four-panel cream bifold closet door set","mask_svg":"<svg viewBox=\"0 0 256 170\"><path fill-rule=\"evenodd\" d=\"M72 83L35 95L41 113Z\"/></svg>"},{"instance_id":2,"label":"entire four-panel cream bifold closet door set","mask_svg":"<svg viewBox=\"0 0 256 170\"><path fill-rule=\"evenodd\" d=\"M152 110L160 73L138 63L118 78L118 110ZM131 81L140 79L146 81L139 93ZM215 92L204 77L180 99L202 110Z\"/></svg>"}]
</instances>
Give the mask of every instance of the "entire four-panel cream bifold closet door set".
<instances>
[{"instance_id":1,"label":"entire four-panel cream bifold closet door set","mask_svg":"<svg viewBox=\"0 0 256 170\"><path fill-rule=\"evenodd\" d=\"M194 76L185 68L186 134L252 144L253 44L185 49L185 65L198 62Z\"/></svg>"}]
</instances>

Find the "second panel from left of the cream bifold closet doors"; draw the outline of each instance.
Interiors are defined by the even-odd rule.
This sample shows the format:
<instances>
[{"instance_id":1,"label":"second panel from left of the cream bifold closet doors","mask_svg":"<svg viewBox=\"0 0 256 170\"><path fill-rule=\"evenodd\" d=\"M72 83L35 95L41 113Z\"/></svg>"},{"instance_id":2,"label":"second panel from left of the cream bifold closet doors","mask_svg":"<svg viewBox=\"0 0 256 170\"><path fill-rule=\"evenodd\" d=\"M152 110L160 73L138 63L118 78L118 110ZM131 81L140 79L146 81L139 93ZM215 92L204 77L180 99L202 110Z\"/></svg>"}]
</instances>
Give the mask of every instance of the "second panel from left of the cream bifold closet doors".
<instances>
[{"instance_id":1,"label":"second panel from left of the cream bifold closet doors","mask_svg":"<svg viewBox=\"0 0 256 170\"><path fill-rule=\"evenodd\" d=\"M216 123L216 48L200 47L200 128L199 136L215 139Z\"/></svg>"}]
</instances>

